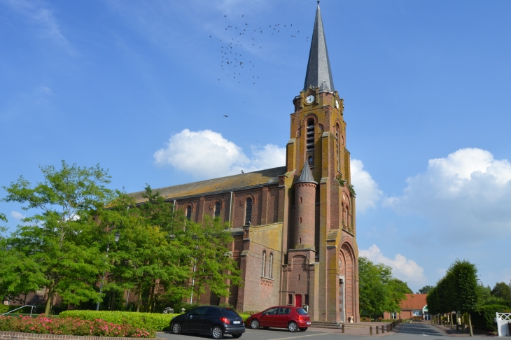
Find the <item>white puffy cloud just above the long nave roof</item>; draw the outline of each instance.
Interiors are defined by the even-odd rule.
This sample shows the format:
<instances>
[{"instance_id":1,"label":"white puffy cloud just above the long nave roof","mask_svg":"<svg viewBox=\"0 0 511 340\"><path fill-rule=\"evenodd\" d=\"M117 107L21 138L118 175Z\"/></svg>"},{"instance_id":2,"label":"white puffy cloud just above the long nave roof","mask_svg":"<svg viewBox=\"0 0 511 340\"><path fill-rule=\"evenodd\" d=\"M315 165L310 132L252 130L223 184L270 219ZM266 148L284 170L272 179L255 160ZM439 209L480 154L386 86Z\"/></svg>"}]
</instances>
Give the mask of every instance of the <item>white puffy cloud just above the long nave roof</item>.
<instances>
[{"instance_id":1,"label":"white puffy cloud just above the long nave roof","mask_svg":"<svg viewBox=\"0 0 511 340\"><path fill-rule=\"evenodd\" d=\"M158 165L170 164L197 178L228 176L241 170L249 172L286 164L286 149L272 144L253 147L252 155L248 158L239 146L218 132L184 129L174 134L165 148L156 151L153 157Z\"/></svg>"}]
</instances>

